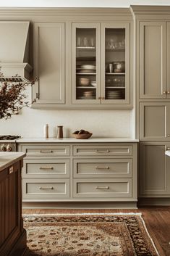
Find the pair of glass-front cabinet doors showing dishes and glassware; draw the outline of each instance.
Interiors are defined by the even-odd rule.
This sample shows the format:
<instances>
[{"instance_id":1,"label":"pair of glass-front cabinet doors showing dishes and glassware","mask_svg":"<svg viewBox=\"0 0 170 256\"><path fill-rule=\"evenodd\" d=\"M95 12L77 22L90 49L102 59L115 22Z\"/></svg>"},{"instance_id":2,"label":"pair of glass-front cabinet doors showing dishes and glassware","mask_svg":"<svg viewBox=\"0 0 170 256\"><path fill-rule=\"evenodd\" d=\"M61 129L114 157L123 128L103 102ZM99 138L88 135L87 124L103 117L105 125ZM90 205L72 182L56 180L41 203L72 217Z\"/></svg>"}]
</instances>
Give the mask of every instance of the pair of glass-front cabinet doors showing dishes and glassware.
<instances>
[{"instance_id":1,"label":"pair of glass-front cabinet doors showing dishes and glassware","mask_svg":"<svg viewBox=\"0 0 170 256\"><path fill-rule=\"evenodd\" d=\"M72 103L129 103L129 24L73 23Z\"/></svg>"}]
</instances>

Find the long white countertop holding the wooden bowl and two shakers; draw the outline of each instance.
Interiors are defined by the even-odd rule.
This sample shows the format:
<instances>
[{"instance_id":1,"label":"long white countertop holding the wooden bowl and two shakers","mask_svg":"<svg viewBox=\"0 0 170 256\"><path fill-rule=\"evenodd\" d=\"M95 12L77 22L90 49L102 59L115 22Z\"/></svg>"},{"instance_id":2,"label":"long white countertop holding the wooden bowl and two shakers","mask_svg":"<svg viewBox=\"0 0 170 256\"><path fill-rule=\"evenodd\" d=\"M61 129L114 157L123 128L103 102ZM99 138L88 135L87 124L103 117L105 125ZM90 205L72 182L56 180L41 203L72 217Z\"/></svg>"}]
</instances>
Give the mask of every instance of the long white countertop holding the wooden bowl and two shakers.
<instances>
[{"instance_id":1,"label":"long white countertop holding the wooden bowl and two shakers","mask_svg":"<svg viewBox=\"0 0 170 256\"><path fill-rule=\"evenodd\" d=\"M75 139L75 138L22 138L17 139L17 143L98 143L98 142L139 142L138 139L131 138L107 138L107 137L91 137L90 139Z\"/></svg>"}]
</instances>

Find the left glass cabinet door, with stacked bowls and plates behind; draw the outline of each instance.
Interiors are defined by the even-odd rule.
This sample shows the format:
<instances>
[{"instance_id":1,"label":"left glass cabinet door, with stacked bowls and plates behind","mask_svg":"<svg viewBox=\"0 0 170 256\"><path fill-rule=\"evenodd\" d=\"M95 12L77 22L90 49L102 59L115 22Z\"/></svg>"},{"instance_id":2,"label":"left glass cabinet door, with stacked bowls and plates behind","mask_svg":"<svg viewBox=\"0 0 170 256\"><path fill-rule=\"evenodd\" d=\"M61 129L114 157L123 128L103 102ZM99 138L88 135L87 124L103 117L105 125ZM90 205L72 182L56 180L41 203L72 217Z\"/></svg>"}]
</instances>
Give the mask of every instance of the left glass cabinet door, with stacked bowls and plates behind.
<instances>
[{"instance_id":1,"label":"left glass cabinet door, with stacked bowls and plates behind","mask_svg":"<svg viewBox=\"0 0 170 256\"><path fill-rule=\"evenodd\" d=\"M73 24L73 89L76 104L100 103L99 24Z\"/></svg>"}]
</instances>

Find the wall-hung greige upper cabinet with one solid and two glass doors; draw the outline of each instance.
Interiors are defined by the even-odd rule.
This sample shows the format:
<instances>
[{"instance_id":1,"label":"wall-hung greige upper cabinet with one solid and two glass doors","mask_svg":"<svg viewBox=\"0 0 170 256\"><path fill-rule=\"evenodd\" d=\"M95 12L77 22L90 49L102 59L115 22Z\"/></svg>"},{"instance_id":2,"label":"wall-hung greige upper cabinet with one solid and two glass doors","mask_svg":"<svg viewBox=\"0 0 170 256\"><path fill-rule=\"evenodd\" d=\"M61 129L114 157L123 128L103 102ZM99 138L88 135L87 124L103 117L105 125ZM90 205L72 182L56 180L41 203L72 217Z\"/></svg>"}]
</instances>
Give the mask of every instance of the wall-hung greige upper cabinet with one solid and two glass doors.
<instances>
[{"instance_id":1,"label":"wall-hung greige upper cabinet with one solid and two glass doors","mask_svg":"<svg viewBox=\"0 0 170 256\"><path fill-rule=\"evenodd\" d=\"M30 36L33 77L38 78L33 108L132 109L129 9L54 9L45 16L40 12L30 22Z\"/></svg>"}]
</instances>

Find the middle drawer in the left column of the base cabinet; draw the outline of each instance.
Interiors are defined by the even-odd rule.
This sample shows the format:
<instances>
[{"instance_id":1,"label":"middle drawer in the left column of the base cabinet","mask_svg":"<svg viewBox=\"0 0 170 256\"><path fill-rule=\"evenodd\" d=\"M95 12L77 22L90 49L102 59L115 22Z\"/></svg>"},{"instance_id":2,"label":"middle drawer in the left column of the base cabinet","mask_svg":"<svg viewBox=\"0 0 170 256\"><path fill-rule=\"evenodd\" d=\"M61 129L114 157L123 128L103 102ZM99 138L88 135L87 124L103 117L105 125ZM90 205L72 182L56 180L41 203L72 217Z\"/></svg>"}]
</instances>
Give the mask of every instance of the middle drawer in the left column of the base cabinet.
<instances>
[{"instance_id":1,"label":"middle drawer in the left column of the base cabinet","mask_svg":"<svg viewBox=\"0 0 170 256\"><path fill-rule=\"evenodd\" d=\"M69 159L24 160L23 178L69 178Z\"/></svg>"}]
</instances>

